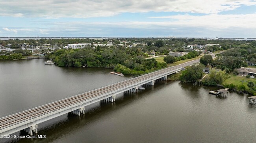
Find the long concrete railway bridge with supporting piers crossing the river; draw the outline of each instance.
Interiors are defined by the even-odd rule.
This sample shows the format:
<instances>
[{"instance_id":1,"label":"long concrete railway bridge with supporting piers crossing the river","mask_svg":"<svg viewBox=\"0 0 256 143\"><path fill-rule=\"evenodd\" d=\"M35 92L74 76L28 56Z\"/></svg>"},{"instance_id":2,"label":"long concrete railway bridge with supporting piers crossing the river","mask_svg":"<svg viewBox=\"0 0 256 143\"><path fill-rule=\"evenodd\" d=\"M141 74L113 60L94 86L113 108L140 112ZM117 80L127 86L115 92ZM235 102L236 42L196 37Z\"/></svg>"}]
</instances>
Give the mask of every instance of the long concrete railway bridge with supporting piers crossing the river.
<instances>
[{"instance_id":1,"label":"long concrete railway bridge with supporting piers crossing the river","mask_svg":"<svg viewBox=\"0 0 256 143\"><path fill-rule=\"evenodd\" d=\"M39 123L63 114L76 114L80 116L80 114L84 114L87 105L98 101L113 102L116 95L121 92L137 92L141 85L154 85L156 80L166 80L168 75L198 62L199 60L193 60L182 63L0 118L0 135L9 135L21 130L25 130L30 135L33 135L33 133L37 134Z\"/></svg>"}]
</instances>

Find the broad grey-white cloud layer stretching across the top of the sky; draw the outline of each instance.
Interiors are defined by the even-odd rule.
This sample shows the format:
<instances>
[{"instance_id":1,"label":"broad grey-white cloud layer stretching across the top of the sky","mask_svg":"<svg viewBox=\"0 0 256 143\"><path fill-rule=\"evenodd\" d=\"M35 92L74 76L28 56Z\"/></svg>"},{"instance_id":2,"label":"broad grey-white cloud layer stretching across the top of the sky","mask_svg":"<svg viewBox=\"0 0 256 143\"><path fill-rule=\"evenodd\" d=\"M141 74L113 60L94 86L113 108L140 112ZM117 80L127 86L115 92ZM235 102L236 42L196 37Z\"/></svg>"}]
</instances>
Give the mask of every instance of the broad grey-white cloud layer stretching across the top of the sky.
<instances>
[{"instance_id":1,"label":"broad grey-white cloud layer stretching across the top of the sky","mask_svg":"<svg viewBox=\"0 0 256 143\"><path fill-rule=\"evenodd\" d=\"M217 14L256 5L256 0L0 0L0 3L0 16L89 18L150 11Z\"/></svg>"}]
</instances>

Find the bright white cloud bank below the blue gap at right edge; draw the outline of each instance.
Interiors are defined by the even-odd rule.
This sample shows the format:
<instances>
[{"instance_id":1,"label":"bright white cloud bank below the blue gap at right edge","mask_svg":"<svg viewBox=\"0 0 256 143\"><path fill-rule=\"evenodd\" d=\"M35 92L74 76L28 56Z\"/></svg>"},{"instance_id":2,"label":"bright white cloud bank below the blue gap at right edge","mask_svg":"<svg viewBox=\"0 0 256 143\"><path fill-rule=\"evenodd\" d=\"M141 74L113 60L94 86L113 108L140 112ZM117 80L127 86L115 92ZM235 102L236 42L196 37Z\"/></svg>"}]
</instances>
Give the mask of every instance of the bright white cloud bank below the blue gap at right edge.
<instances>
[{"instance_id":1,"label":"bright white cloud bank below the blue gap at right edge","mask_svg":"<svg viewBox=\"0 0 256 143\"><path fill-rule=\"evenodd\" d=\"M206 27L211 29L225 28L252 28L256 29L256 14L209 14L204 16L175 15L159 16L150 18L170 18L174 22L167 22L170 25L182 25L189 27Z\"/></svg>"}]
</instances>

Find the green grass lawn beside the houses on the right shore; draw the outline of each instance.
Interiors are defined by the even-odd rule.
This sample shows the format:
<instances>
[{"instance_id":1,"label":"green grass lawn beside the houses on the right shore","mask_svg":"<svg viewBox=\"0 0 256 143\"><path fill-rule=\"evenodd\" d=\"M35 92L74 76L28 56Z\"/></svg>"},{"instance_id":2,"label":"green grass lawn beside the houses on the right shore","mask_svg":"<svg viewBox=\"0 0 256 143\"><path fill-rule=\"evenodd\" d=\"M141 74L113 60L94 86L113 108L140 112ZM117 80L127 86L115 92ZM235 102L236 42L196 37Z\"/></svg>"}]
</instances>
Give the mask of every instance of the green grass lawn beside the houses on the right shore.
<instances>
[{"instance_id":1,"label":"green grass lawn beside the houses on the right shore","mask_svg":"<svg viewBox=\"0 0 256 143\"><path fill-rule=\"evenodd\" d=\"M242 82L242 81L247 81L247 82ZM247 86L247 83L249 81L254 82L256 84L256 78L246 78L245 76L236 76L233 73L230 74L230 78L226 79L223 84L227 83L233 83L234 85L245 85Z\"/></svg>"}]
</instances>

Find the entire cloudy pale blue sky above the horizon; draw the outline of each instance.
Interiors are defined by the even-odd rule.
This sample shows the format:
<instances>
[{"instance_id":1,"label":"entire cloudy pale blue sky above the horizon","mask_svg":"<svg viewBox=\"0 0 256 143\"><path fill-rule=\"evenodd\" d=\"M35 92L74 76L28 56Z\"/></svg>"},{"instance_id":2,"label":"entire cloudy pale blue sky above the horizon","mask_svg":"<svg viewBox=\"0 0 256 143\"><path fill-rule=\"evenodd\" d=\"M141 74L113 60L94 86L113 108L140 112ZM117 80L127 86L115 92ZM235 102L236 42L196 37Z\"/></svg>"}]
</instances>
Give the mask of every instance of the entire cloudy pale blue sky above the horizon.
<instances>
[{"instance_id":1,"label":"entire cloudy pale blue sky above the horizon","mask_svg":"<svg viewBox=\"0 0 256 143\"><path fill-rule=\"evenodd\" d=\"M256 38L256 0L0 0L0 37Z\"/></svg>"}]
</instances>

